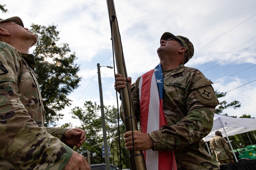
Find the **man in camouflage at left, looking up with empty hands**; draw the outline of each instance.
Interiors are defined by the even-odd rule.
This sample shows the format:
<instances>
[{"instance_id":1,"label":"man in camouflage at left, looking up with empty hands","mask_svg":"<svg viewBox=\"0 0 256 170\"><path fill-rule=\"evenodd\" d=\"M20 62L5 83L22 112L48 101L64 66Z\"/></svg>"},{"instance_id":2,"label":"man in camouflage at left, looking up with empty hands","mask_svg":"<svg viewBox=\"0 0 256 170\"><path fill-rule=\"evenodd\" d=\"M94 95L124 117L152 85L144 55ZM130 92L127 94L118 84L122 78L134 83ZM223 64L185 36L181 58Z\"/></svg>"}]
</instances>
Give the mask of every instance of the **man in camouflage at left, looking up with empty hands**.
<instances>
[{"instance_id":1,"label":"man in camouflage at left, looking up with empty hands","mask_svg":"<svg viewBox=\"0 0 256 170\"><path fill-rule=\"evenodd\" d=\"M44 127L35 60L28 54L36 42L19 17L0 19L0 169L90 169L72 149L85 141L82 129Z\"/></svg>"}]
</instances>

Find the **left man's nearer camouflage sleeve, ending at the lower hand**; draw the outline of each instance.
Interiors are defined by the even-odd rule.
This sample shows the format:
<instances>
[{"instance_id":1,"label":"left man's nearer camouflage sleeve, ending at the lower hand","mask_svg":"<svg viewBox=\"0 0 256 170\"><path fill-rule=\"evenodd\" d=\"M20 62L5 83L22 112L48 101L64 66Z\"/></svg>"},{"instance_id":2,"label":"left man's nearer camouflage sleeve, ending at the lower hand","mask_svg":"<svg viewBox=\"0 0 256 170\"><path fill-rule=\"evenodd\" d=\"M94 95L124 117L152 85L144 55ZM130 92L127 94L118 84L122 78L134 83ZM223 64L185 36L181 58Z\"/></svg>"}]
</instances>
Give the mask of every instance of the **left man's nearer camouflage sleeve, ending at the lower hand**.
<instances>
[{"instance_id":1,"label":"left man's nearer camouflage sleeve, ending at the lower hand","mask_svg":"<svg viewBox=\"0 0 256 170\"><path fill-rule=\"evenodd\" d=\"M19 169L62 169L73 150L39 127L20 102L17 87L19 61L14 52L0 53L0 157ZM11 62L7 64L8 55ZM8 66L8 67L7 67Z\"/></svg>"}]
</instances>

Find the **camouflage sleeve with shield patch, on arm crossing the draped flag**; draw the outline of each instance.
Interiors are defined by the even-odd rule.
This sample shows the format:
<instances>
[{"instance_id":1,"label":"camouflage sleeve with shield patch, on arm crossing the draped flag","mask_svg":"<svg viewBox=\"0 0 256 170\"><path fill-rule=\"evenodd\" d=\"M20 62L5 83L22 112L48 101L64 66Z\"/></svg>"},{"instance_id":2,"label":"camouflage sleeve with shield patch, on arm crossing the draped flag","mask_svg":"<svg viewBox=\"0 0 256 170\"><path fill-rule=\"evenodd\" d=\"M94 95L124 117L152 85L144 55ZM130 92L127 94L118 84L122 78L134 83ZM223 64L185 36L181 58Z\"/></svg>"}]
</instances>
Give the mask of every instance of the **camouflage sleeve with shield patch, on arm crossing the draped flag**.
<instances>
[{"instance_id":1,"label":"camouflage sleeve with shield patch, on arm crossing the draped flag","mask_svg":"<svg viewBox=\"0 0 256 170\"><path fill-rule=\"evenodd\" d=\"M149 133L154 141L154 151L181 149L208 135L215 107L219 104L210 83L203 78L189 86L184 101L188 111L186 116L173 126L163 126Z\"/></svg>"}]
</instances>

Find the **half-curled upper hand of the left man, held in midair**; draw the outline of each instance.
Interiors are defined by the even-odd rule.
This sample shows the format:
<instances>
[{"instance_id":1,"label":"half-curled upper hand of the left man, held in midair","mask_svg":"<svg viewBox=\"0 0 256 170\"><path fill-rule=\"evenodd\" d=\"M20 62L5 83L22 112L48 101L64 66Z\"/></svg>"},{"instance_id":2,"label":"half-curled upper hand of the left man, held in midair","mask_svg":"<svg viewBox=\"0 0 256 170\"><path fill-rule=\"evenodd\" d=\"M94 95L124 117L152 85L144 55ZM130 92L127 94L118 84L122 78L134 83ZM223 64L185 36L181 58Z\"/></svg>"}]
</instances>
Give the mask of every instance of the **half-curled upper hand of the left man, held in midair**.
<instances>
[{"instance_id":1,"label":"half-curled upper hand of the left man, held in midair","mask_svg":"<svg viewBox=\"0 0 256 170\"><path fill-rule=\"evenodd\" d=\"M68 129L64 133L64 143L76 146L78 149L86 140L85 131L79 128Z\"/></svg>"}]
</instances>

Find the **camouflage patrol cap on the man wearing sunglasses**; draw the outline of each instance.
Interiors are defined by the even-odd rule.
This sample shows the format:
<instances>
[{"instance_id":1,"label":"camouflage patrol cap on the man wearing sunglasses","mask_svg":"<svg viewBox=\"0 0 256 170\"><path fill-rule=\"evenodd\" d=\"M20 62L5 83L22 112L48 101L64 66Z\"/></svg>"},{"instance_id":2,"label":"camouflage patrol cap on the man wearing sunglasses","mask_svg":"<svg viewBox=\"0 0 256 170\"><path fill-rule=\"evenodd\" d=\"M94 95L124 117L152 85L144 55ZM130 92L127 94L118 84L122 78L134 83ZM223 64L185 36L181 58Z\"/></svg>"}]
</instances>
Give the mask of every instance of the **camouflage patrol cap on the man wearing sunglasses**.
<instances>
[{"instance_id":1,"label":"camouflage patrol cap on the man wearing sunglasses","mask_svg":"<svg viewBox=\"0 0 256 170\"><path fill-rule=\"evenodd\" d=\"M188 60L190 58L192 58L192 56L194 55L194 46L193 46L193 44L189 41L188 38L180 36L180 35L175 36L175 35L173 35L172 33L169 33L169 32L165 32L162 35L162 37L160 39L160 44L161 44L161 40L166 40L169 37L176 37L179 40L179 42L182 43L182 45L186 48L187 60L184 63L184 64L186 64L188 62Z\"/></svg>"}]
</instances>

